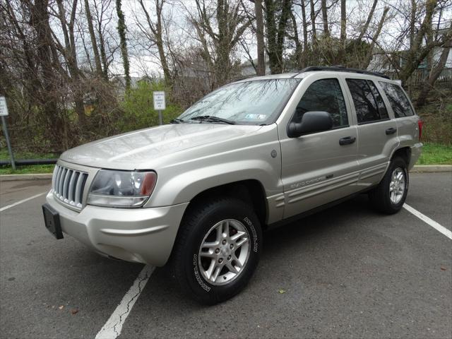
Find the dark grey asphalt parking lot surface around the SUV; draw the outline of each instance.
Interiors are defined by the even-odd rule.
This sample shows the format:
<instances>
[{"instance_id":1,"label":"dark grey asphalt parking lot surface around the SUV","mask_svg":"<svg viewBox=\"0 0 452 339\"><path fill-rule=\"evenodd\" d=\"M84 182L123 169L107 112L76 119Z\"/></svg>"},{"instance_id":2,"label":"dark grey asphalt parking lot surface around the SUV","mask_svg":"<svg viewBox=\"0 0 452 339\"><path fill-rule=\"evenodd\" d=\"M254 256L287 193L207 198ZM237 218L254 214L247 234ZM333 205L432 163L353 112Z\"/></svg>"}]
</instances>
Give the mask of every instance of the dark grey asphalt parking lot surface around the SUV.
<instances>
[{"instance_id":1,"label":"dark grey asphalt parking lot surface around the SUV","mask_svg":"<svg viewBox=\"0 0 452 339\"><path fill-rule=\"evenodd\" d=\"M49 182L0 188L1 210ZM0 212L0 337L95 338L143 265L55 240L42 203ZM451 230L452 174L411 174L407 203ZM379 215L362 195L264 240L251 283L214 307L155 269L119 338L452 338L452 240L408 210Z\"/></svg>"}]
</instances>

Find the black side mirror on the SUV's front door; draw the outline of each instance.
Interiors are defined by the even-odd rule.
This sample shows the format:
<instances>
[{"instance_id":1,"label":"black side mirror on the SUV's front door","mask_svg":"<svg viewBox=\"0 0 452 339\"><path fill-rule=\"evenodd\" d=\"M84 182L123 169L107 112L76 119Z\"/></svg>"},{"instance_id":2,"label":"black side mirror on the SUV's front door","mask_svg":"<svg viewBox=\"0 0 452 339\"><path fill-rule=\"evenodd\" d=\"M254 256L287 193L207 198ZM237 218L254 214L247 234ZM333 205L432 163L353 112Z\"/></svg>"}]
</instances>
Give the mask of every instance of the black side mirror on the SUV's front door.
<instances>
[{"instance_id":1,"label":"black side mirror on the SUV's front door","mask_svg":"<svg viewBox=\"0 0 452 339\"><path fill-rule=\"evenodd\" d=\"M298 138L303 134L328 131L333 127L331 114L323 111L312 111L303 114L302 122L291 122L287 126L287 136Z\"/></svg>"}]
</instances>

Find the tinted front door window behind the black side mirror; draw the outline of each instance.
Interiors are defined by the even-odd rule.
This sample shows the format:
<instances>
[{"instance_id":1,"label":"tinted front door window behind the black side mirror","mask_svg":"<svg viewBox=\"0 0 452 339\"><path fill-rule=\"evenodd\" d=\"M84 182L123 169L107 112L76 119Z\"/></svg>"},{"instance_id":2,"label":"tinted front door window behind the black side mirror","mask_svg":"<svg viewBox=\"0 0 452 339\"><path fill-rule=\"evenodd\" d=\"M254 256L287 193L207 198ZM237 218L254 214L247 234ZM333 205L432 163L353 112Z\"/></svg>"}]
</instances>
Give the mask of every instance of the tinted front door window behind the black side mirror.
<instances>
[{"instance_id":1,"label":"tinted front door window behind the black side mirror","mask_svg":"<svg viewBox=\"0 0 452 339\"><path fill-rule=\"evenodd\" d=\"M333 127L348 125L347 109L338 79L321 79L311 83L299 101L293 121L302 121L309 111L324 111L333 117Z\"/></svg>"}]
</instances>

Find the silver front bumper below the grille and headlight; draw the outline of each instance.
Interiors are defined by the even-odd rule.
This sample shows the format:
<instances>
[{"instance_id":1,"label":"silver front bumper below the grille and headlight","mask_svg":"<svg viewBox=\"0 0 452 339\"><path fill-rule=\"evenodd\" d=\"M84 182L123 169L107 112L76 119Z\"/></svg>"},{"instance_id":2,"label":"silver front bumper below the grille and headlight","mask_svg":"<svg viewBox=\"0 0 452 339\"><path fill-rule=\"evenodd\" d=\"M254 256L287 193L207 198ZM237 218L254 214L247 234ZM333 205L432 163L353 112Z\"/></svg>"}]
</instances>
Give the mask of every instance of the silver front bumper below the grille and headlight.
<instances>
[{"instance_id":1,"label":"silver front bumper below the grille and headlight","mask_svg":"<svg viewBox=\"0 0 452 339\"><path fill-rule=\"evenodd\" d=\"M77 212L52 193L47 203L60 216L61 230L107 256L163 266L171 254L179 224L189 203L157 208L85 206Z\"/></svg>"}]
</instances>

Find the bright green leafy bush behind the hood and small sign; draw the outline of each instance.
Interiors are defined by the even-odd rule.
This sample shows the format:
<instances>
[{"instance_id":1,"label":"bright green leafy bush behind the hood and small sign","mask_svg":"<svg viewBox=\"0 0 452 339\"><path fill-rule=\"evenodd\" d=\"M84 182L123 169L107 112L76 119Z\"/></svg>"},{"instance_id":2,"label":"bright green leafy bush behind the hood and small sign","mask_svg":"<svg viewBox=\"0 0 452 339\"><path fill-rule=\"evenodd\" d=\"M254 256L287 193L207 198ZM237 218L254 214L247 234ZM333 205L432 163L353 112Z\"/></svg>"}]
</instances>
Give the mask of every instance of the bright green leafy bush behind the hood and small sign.
<instances>
[{"instance_id":1,"label":"bright green leafy bush behind the hood and small sign","mask_svg":"<svg viewBox=\"0 0 452 339\"><path fill-rule=\"evenodd\" d=\"M117 126L120 132L158 125L158 112L153 107L153 92L157 90L166 92L167 108L162 112L164 124L182 113L182 108L172 102L171 91L165 88L163 83L141 81L137 88L131 88L129 93L126 93L124 102L121 102L121 111L124 115L119 119Z\"/></svg>"}]
</instances>

